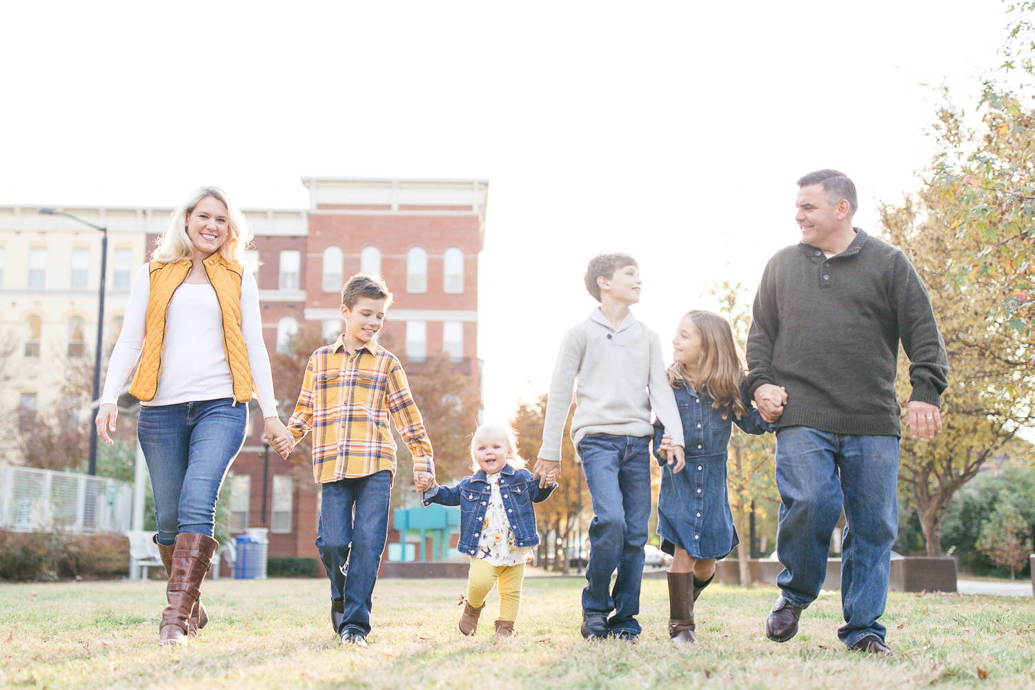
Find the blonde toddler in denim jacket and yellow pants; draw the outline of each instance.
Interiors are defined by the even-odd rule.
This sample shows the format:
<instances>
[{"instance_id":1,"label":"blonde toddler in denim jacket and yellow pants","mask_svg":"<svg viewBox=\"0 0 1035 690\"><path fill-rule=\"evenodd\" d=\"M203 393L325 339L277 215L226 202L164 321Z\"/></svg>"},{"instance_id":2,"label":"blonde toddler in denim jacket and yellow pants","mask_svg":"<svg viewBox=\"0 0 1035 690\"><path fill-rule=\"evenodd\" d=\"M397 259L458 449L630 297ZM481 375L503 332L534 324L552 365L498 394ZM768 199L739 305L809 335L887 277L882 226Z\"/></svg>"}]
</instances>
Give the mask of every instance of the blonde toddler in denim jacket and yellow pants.
<instances>
[{"instance_id":1,"label":"blonde toddler in denim jacket and yellow pants","mask_svg":"<svg viewBox=\"0 0 1035 690\"><path fill-rule=\"evenodd\" d=\"M430 486L423 494L425 506L461 507L456 549L471 557L460 618L460 631L465 635L478 629L478 618L494 583L500 594L496 635L513 635L525 563L532 560L532 549L539 543L532 504L545 501L557 487L551 473L551 486L539 488L532 473L524 469L525 460L515 447L516 438L509 426L482 424L471 440L472 476L452 488L440 486L431 475L421 477Z\"/></svg>"}]
</instances>

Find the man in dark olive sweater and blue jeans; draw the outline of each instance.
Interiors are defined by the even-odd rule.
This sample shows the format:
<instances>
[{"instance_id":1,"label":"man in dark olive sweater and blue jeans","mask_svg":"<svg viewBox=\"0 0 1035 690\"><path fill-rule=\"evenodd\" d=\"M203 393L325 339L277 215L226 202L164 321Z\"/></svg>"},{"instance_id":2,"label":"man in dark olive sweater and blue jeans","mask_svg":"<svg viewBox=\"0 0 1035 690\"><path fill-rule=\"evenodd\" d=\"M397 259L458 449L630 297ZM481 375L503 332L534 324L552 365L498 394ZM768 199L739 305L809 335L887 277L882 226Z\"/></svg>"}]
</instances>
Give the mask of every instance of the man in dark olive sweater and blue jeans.
<instances>
[{"instance_id":1,"label":"man in dark olive sweater and blue jeans","mask_svg":"<svg viewBox=\"0 0 1035 690\"><path fill-rule=\"evenodd\" d=\"M766 634L782 642L798 632L801 610L826 577L844 508L845 625L837 634L850 649L891 656L878 619L898 531L898 343L911 362L908 426L921 440L942 430L945 344L910 261L852 227L852 181L823 170L798 187L801 242L769 260L747 338L748 394L764 417L779 417L776 551L783 570ZM782 408L769 401L773 391L782 393Z\"/></svg>"}]
</instances>

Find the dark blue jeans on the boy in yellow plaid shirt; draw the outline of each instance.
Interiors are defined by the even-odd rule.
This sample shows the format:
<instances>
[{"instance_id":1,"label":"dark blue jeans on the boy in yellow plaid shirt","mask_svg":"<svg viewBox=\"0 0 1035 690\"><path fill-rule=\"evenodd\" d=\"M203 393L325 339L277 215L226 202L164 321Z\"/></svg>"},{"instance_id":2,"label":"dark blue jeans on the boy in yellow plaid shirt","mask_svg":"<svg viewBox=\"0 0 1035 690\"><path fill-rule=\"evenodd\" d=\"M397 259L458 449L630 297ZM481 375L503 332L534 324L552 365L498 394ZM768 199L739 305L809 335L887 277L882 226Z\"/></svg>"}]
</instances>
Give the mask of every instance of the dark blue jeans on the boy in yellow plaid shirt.
<instances>
[{"instance_id":1,"label":"dark blue jeans on the boy in yellow plaid shirt","mask_svg":"<svg viewBox=\"0 0 1035 690\"><path fill-rule=\"evenodd\" d=\"M371 634L371 597L388 538L391 473L341 479L322 487L317 548L330 578L331 599L345 599L338 634L352 628ZM351 549L350 549L351 544ZM343 574L346 563L349 574Z\"/></svg>"}]
</instances>

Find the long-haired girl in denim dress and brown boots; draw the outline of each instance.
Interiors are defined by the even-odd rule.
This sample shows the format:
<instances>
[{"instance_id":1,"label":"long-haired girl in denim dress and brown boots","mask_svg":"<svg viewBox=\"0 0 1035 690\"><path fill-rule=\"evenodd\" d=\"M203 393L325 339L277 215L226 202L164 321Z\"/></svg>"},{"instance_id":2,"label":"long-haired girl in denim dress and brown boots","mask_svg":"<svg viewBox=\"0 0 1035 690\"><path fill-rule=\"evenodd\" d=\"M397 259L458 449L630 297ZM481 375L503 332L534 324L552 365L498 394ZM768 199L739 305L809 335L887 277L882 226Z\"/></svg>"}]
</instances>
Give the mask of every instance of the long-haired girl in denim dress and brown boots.
<instances>
[{"instance_id":1,"label":"long-haired girl in denim dress and brown boots","mask_svg":"<svg viewBox=\"0 0 1035 690\"><path fill-rule=\"evenodd\" d=\"M669 571L669 637L696 642L693 602L715 576L716 559L740 543L726 482L731 425L745 433L773 431L741 390L746 366L730 322L703 309L686 313L672 339L669 383L683 422L686 463L662 466L657 503L661 550L673 556ZM659 461L672 446L655 422Z\"/></svg>"}]
</instances>

